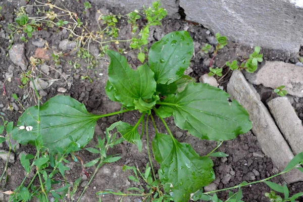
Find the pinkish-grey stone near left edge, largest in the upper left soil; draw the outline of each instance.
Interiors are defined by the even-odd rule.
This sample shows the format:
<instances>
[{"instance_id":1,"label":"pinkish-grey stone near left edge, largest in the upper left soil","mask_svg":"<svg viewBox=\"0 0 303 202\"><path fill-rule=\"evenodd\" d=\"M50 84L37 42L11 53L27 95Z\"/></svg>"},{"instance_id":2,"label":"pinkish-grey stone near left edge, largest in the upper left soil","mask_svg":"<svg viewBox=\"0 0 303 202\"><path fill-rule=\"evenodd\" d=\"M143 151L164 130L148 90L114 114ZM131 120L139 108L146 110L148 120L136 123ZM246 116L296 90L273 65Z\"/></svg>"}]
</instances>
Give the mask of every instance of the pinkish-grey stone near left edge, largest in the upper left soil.
<instances>
[{"instance_id":1,"label":"pinkish-grey stone near left edge, largest in the upper left soil","mask_svg":"<svg viewBox=\"0 0 303 202\"><path fill-rule=\"evenodd\" d=\"M9 51L10 59L15 65L21 67L23 71L27 70L28 62L25 58L25 46L22 44L15 44L11 47Z\"/></svg>"}]
</instances>

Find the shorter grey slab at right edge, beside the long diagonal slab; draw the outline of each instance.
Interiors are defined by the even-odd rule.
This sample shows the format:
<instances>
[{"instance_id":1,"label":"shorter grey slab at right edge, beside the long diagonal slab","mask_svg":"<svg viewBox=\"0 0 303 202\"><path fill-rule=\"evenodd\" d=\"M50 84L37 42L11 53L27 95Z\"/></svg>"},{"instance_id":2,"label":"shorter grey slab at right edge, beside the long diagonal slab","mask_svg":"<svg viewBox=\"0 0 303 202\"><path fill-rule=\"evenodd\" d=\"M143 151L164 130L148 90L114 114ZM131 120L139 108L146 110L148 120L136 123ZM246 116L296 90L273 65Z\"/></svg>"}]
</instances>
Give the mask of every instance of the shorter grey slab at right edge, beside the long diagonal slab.
<instances>
[{"instance_id":1,"label":"shorter grey slab at right edge, beside the long diagonal slab","mask_svg":"<svg viewBox=\"0 0 303 202\"><path fill-rule=\"evenodd\" d=\"M299 154L303 151L303 125L289 100L287 97L276 97L267 105L293 154Z\"/></svg>"}]
</instances>

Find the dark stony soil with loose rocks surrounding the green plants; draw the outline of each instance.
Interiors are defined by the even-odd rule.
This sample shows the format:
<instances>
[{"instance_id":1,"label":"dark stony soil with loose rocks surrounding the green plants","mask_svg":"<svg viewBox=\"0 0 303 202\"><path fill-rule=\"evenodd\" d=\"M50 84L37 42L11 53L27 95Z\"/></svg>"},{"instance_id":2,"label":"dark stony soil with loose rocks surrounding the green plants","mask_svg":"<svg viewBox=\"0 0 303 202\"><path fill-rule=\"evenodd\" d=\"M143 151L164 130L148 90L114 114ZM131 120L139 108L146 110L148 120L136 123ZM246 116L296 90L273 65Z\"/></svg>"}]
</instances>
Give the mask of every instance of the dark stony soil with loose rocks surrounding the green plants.
<instances>
[{"instance_id":1,"label":"dark stony soil with loose rocks surrounding the green plants","mask_svg":"<svg viewBox=\"0 0 303 202\"><path fill-rule=\"evenodd\" d=\"M54 2L61 5L62 1L58 0ZM32 1L29 1L29 4L31 3ZM108 79L107 67L109 65L109 59L106 56L101 57L98 59L99 64L96 67L93 69L87 69L85 61L79 60L76 56L76 52L71 52L75 47L75 44L67 43L66 39L68 38L69 33L67 33L66 30L55 28L46 30L42 29L35 32L33 37L26 43L20 40L20 35L15 35L15 42L10 51L8 51L7 47L10 45L8 38L10 30L8 30L8 24L12 23L15 19L14 10L26 4L26 1L20 1L17 3L17 1L11 2L6 0L0 3L0 6L3 6L1 12L3 17L0 18L0 25L2 25L2 27L0 27L0 86L2 86L0 89L1 115L6 120L14 121L14 123L16 123L18 118L24 112L22 106L19 105L19 103L12 97L13 93L18 95L20 103L25 109L36 105L36 98L32 86L27 85L24 88L18 87L18 85L20 85L21 75L27 71L27 66L30 63L29 59L32 56L45 60L44 64L37 65L35 69L35 74L38 78L36 82L38 83L37 86L39 86L39 93L42 95L42 103L57 94L65 94L72 96L81 103L84 103L87 110L94 114L104 114L120 110L121 106L117 103L111 102L104 90ZM63 4L69 10L78 13L79 17L84 22L87 22L88 27L91 29L97 27L95 22L96 10L102 10L103 12L111 11L113 13L119 12L119 9L105 8L102 5L92 4L92 9L87 11L86 14L83 14L83 3L65 1ZM78 6L75 7L74 4L77 4ZM30 7L26 9L26 12L32 16L36 15L37 10L29 8ZM141 25L144 24L144 22L140 23ZM201 48L205 43L210 43L212 45L216 44L214 33L211 33L210 30L207 30L201 25L184 20L166 18L162 23L163 26L151 28L150 36L148 38L149 46L171 31L187 30L194 40L194 56L191 60L190 68L187 70L187 74L195 78L196 81L213 82L213 85L217 85L221 89L226 90L227 84L229 83L229 79L232 75L231 73L227 74L221 80L213 78L212 81L206 81L205 76L203 76L209 72L212 55L205 54L201 51ZM119 39L127 39L131 37L131 27L127 25L123 19L119 23L118 28L120 29ZM45 52L43 47L45 47L46 44L51 48ZM126 52L128 52L126 54L126 58L128 59L129 64L134 67L140 64L136 58L137 52L129 52L129 43L113 43L110 44L110 48L116 51L118 48L125 48ZM68 53L60 59L60 65L55 66L55 62L52 60L51 56L53 53L52 50ZM96 56L100 53L97 43L91 43L89 50ZM229 41L228 45L220 50L219 55L214 60L214 64L218 67L222 67L226 61L242 60L252 52L252 47L247 47L233 41ZM262 53L264 54L265 61L282 61L283 64L284 62L296 64L296 66L293 65L292 68L296 68L297 70L302 68L300 67L302 64L299 63L297 56L291 56L287 53L271 49L262 49ZM303 56L303 48L301 48L301 51L298 54ZM74 68L74 66L70 65L68 61L77 61L81 66ZM290 74L277 69L262 73L266 70L265 68L263 69L264 66L266 66L266 62L261 64L261 70L253 76L247 76L247 74L245 74L246 79L259 92L260 97L258 97L258 99L260 100L260 103L264 104L265 109L267 109L267 103L269 100L277 97L277 95L273 93L273 88L277 85L275 82L283 81L281 85L286 85L286 88L290 93L287 95L287 98L293 107L296 118L303 120L303 91L301 91L303 89L303 77L300 77L301 72L303 71L298 71L298 74ZM226 67L223 70L223 74L225 74L225 72L227 72ZM266 76L269 75L272 76L271 79L266 78ZM81 79L81 77L83 78L85 76L88 76L92 82L90 79ZM268 83L267 81L270 81L271 83ZM242 105L245 106L245 104ZM95 145L97 142L97 135L103 137L106 127L110 126L112 123L119 120L132 123L132 120L135 120L138 116L139 114L136 113L127 113L121 116L116 115L99 120L95 128L95 137L88 146ZM166 130L164 126L159 122L159 120L156 121L159 125L160 131L165 133ZM176 138L180 142L190 143L199 155L206 155L210 150L216 147L216 142L200 140L187 134L185 131L180 130L174 126L173 119L169 120L169 123L173 133L176 135ZM151 126L150 130L153 131ZM282 129L280 130L283 132ZM153 137L154 135L151 133L151 138ZM272 159L269 156L266 156L268 154L264 154L263 144L260 144L260 140L258 140L258 135L248 132L246 134L239 135L234 140L224 142L219 148L219 151L223 151L229 156L227 158L213 158L216 180L205 189L207 191L222 189L237 185L244 180L250 182L277 174L281 170L280 165L274 164ZM135 186L135 184L128 179L128 175L131 173L123 172L122 166L138 166L141 170L144 170L146 163L148 162L146 148L146 140L143 137L142 153L137 151L135 145L127 142L123 142L123 144L110 150L111 154L122 154L122 159L116 163L107 164L100 169L82 201L97 201L98 199L95 195L96 191L105 189L126 191L128 187ZM7 153L7 143L4 142L3 144L0 144L0 149L2 149L0 153ZM19 160L20 154L24 152L27 154L35 154L35 148L31 145L17 144L16 151L9 157L8 181L1 191L14 190L24 178L25 171ZM89 162L96 158L96 156L91 155L86 150L79 151L77 155L85 162ZM5 154L1 154L0 157L3 159L0 160L0 170L3 170L5 160L8 157ZM159 168L159 165L156 162L154 162L154 165L156 169ZM67 171L66 178L68 181L73 182L82 175L82 169L81 166L72 160L68 166L71 170ZM94 171L94 167L88 168L87 171L91 176ZM79 191L82 191L88 180L89 179L83 175ZM284 179L276 177L273 181L282 184ZM291 194L295 194L303 190L303 182L291 182L288 183L287 186ZM244 201L269 201L264 195L265 192L269 191L270 189L264 183L244 187L242 199ZM227 195L227 192L221 192L219 197L224 199L227 198ZM101 197L104 201L118 201L119 198L110 195L102 195ZM8 196L0 193L0 201L7 200ZM303 201L303 199L300 200ZM141 201L141 198L124 198L123 201L139 202Z\"/></svg>"}]
</instances>

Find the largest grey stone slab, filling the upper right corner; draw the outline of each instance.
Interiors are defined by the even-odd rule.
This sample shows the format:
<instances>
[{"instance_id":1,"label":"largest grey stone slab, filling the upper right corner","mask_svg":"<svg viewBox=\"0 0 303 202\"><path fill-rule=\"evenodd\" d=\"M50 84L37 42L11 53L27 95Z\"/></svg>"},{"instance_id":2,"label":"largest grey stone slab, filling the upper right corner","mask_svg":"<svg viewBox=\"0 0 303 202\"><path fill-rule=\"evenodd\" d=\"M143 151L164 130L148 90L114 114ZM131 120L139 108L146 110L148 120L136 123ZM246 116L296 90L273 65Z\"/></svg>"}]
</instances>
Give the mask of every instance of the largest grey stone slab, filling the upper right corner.
<instances>
[{"instance_id":1,"label":"largest grey stone slab, filling the upper right corner","mask_svg":"<svg viewBox=\"0 0 303 202\"><path fill-rule=\"evenodd\" d=\"M303 9L289 0L180 0L186 19L229 40L297 53L303 44Z\"/></svg>"}]
</instances>

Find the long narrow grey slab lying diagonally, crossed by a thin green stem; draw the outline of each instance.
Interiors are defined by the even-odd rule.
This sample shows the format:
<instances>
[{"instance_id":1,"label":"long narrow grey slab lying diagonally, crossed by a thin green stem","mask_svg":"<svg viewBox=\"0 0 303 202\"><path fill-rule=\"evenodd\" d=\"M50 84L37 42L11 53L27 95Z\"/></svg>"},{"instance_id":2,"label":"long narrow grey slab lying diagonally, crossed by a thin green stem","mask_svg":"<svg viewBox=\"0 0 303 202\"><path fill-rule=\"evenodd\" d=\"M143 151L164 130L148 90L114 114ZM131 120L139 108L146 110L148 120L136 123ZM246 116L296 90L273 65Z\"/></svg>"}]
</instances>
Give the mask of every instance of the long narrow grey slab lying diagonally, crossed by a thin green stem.
<instances>
[{"instance_id":1,"label":"long narrow grey slab lying diagonally, crossed by a thin green stem","mask_svg":"<svg viewBox=\"0 0 303 202\"><path fill-rule=\"evenodd\" d=\"M248 111L252 122L251 131L257 136L263 152L282 171L294 155L271 114L256 96L256 92L252 90L252 86L249 85L240 71L233 71L227 85L227 92ZM284 174L283 177L287 183L303 181L303 173L297 169Z\"/></svg>"}]
</instances>

